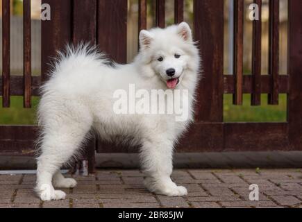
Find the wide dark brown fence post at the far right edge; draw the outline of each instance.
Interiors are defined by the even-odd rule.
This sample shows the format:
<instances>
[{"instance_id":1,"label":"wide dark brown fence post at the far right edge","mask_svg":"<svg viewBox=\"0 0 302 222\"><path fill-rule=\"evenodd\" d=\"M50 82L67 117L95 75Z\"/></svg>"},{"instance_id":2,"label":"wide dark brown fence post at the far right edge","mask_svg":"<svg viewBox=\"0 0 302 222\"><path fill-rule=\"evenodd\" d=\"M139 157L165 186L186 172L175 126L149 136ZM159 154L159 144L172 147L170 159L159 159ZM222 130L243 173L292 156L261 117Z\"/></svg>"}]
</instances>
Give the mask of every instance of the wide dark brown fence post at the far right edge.
<instances>
[{"instance_id":1,"label":"wide dark brown fence post at the far right edge","mask_svg":"<svg viewBox=\"0 0 302 222\"><path fill-rule=\"evenodd\" d=\"M297 151L302 150L302 1L289 1L288 137Z\"/></svg>"}]
</instances>

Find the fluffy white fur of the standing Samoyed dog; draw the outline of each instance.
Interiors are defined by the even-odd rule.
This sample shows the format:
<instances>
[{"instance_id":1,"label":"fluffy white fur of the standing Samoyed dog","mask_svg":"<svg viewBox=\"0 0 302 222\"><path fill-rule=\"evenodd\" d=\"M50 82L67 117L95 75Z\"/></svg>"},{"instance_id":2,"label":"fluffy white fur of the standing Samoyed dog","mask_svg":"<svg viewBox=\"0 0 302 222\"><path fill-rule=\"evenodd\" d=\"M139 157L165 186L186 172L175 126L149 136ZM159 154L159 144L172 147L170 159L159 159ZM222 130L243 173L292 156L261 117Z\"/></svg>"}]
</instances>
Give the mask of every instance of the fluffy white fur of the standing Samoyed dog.
<instances>
[{"instance_id":1,"label":"fluffy white fur of the standing Samoyed dog","mask_svg":"<svg viewBox=\"0 0 302 222\"><path fill-rule=\"evenodd\" d=\"M175 58L175 54L180 58ZM162 57L163 61L158 61ZM140 53L128 65L108 65L95 49L81 44L59 53L51 78L42 87L38 116L42 129L40 156L37 157L37 185L42 200L65 198L54 187L74 187L76 180L64 178L62 164L81 149L93 128L101 139L130 141L141 146L144 184L149 191L168 196L187 194L170 178L172 155L177 139L193 119L193 103L199 80L199 51L186 23L153 28L140 33ZM174 68L179 78L176 89L188 89L189 119L176 122L173 114L115 114L112 111L116 89L167 89L166 70ZM123 138L123 139L121 139Z\"/></svg>"}]
</instances>

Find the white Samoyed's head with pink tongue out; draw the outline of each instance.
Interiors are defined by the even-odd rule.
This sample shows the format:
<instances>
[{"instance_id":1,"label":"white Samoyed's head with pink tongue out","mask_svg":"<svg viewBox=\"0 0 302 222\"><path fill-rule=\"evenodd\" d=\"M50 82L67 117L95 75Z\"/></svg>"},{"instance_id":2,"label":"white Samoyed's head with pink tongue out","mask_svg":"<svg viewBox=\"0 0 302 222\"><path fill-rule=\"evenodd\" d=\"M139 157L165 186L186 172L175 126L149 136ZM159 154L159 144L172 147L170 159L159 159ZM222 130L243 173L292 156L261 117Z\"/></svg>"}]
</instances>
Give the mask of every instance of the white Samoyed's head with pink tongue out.
<instances>
[{"instance_id":1,"label":"white Samoyed's head with pink tongue out","mask_svg":"<svg viewBox=\"0 0 302 222\"><path fill-rule=\"evenodd\" d=\"M185 22L164 29L142 30L140 54L149 65L149 72L158 75L169 89L175 89L181 83L187 75L187 69L194 73L194 69L199 67L192 31Z\"/></svg>"}]
</instances>

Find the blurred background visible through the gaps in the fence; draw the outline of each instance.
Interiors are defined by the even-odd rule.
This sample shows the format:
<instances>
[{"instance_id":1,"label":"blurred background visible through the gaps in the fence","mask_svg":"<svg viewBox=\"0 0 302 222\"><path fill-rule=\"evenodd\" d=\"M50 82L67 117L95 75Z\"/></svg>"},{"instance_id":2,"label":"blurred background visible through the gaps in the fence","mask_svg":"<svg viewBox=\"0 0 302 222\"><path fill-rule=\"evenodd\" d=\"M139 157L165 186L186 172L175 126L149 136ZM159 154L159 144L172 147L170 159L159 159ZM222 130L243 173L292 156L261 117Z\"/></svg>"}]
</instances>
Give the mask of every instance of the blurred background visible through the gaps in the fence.
<instances>
[{"instance_id":1,"label":"blurred background visible through the gaps in the fence","mask_svg":"<svg viewBox=\"0 0 302 222\"><path fill-rule=\"evenodd\" d=\"M197 0L198 1L198 0ZM233 1L221 0L224 8L224 74L233 74ZM174 0L166 0L166 24L174 23ZM269 39L269 6L268 0L262 1L262 75L268 72L268 39ZM11 75L23 74L23 1L10 0L10 71ZM131 62L137 54L137 20L138 0L128 0L128 40L127 60ZM147 27L155 24L155 3L148 0ZM245 0L244 17L244 74L251 75L252 56L252 21L249 19L249 5L253 0ZM40 75L41 69L41 0L31 0L32 17L32 71L33 76ZM0 1L0 33L2 33L2 7ZM193 0L185 0L185 22L193 28ZM0 34L0 51L2 51L2 35ZM221 52L222 53L222 52ZM280 75L287 74L287 0L280 0ZM2 54L0 53L0 71L2 72ZM0 96L0 103L1 101ZM22 97L12 96L11 107L0 106L0 124L35 124L35 110L38 98L33 98L33 108L24 109ZM250 95L244 94L244 105L232 105L232 95L224 95L224 121L265 122L287 121L287 95L280 94L279 105L267 105L267 94L262 94L262 105L252 107Z\"/></svg>"}]
</instances>

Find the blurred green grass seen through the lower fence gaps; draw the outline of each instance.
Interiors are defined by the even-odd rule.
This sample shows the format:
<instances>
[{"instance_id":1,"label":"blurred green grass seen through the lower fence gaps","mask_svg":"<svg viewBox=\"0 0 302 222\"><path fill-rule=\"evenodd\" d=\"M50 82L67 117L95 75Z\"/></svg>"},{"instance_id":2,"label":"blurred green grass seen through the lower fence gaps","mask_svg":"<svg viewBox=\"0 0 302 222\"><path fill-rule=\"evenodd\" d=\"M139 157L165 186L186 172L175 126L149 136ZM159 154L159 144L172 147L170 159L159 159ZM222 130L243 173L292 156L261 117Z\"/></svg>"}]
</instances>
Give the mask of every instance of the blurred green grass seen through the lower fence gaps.
<instances>
[{"instance_id":1,"label":"blurred green grass seen through the lower fence gaps","mask_svg":"<svg viewBox=\"0 0 302 222\"><path fill-rule=\"evenodd\" d=\"M284 122L286 121L287 96L279 96L279 105L267 105L267 95L262 95L261 106L251 106L251 96L244 95L244 105L233 105L232 95L224 95L225 122ZM0 96L0 125L33 125L37 110L38 97L33 97L31 109L23 108L23 97L12 96L10 108L2 108Z\"/></svg>"}]
</instances>

